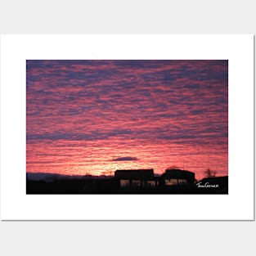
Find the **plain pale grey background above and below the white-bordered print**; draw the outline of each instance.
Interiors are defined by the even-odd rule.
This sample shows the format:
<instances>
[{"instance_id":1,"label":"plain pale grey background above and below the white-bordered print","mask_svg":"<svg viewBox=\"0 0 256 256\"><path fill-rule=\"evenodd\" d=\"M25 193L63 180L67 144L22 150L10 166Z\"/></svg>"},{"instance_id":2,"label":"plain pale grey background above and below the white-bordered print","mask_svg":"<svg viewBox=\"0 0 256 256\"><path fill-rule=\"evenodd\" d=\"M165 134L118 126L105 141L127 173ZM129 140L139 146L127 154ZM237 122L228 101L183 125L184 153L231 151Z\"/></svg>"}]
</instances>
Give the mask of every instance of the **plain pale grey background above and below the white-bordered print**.
<instances>
[{"instance_id":1,"label":"plain pale grey background above and below the white-bordered print","mask_svg":"<svg viewBox=\"0 0 256 256\"><path fill-rule=\"evenodd\" d=\"M255 34L253 1L111 3L94 1L80 7L75 1L71 6L44 1L26 6L8 1L1 8L1 33ZM0 226L4 255L255 253L255 222L0 222Z\"/></svg>"}]
</instances>

